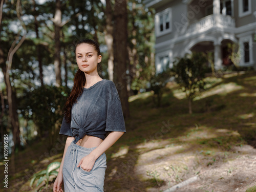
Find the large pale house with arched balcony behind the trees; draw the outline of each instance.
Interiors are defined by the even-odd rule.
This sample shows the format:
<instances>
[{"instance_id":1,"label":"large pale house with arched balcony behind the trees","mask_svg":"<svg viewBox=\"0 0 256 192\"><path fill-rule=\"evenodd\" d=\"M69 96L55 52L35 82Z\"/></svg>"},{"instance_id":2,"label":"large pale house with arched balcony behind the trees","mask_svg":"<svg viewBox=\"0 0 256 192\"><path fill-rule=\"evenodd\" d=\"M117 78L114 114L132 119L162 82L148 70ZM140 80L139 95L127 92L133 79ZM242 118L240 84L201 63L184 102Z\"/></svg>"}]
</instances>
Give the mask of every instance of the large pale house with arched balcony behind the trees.
<instances>
[{"instance_id":1,"label":"large pale house with arched balcony behind the trees","mask_svg":"<svg viewBox=\"0 0 256 192\"><path fill-rule=\"evenodd\" d=\"M228 65L229 43L240 45L241 67L256 69L255 0L144 0L154 8L156 72L194 51L214 53L215 69Z\"/></svg>"}]
</instances>

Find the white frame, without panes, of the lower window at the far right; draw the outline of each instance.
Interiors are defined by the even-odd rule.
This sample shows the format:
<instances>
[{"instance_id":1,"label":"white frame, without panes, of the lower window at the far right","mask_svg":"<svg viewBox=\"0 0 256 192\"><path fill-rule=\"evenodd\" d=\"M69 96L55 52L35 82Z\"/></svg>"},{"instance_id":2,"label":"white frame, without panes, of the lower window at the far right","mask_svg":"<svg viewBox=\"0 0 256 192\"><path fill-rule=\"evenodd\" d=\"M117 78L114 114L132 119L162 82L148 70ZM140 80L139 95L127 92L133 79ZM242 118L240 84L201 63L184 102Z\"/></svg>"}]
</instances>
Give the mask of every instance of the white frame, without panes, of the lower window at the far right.
<instances>
[{"instance_id":1,"label":"white frame, without panes, of the lower window at the far right","mask_svg":"<svg viewBox=\"0 0 256 192\"><path fill-rule=\"evenodd\" d=\"M253 66L253 41L252 41L252 35L244 36L239 39L240 44L240 54L241 54L241 60L240 60L240 66L241 67L247 67L247 66ZM244 42L249 42L249 62L244 62Z\"/></svg>"}]
</instances>

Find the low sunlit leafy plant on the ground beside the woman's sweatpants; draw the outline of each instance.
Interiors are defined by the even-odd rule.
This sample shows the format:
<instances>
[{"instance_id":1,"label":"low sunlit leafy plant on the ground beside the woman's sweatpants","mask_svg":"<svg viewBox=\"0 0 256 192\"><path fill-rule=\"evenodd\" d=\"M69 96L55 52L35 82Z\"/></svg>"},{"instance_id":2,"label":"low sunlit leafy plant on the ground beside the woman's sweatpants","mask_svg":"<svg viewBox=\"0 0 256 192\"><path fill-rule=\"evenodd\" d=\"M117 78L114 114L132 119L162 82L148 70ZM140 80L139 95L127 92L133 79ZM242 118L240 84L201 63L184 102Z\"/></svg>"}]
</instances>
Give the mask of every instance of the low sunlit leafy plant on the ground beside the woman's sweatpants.
<instances>
[{"instance_id":1,"label":"low sunlit leafy plant on the ground beside the woman's sweatpants","mask_svg":"<svg viewBox=\"0 0 256 192\"><path fill-rule=\"evenodd\" d=\"M59 168L59 166L60 162L52 162L47 166L46 169L41 170L40 172L34 174L30 179L30 186L32 187L34 182L38 180L36 187L40 185L43 181L45 181L46 188L48 188L49 178L50 176L57 177L58 172L56 171L56 169Z\"/></svg>"}]
</instances>

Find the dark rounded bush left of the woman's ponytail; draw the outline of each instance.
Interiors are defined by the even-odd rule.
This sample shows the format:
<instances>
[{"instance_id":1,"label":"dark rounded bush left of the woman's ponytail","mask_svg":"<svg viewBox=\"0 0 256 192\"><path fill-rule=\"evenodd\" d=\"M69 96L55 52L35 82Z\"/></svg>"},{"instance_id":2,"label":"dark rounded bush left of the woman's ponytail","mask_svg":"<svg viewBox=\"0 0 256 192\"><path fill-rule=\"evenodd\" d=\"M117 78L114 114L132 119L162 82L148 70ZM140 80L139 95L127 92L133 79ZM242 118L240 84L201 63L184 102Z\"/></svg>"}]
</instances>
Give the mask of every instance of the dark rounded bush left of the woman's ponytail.
<instances>
[{"instance_id":1,"label":"dark rounded bush left of the woman's ponytail","mask_svg":"<svg viewBox=\"0 0 256 192\"><path fill-rule=\"evenodd\" d=\"M59 131L63 106L70 90L65 87L44 86L24 92L19 109L23 117L33 120L39 137L49 135L50 142ZM51 143L52 144L52 143Z\"/></svg>"}]
</instances>

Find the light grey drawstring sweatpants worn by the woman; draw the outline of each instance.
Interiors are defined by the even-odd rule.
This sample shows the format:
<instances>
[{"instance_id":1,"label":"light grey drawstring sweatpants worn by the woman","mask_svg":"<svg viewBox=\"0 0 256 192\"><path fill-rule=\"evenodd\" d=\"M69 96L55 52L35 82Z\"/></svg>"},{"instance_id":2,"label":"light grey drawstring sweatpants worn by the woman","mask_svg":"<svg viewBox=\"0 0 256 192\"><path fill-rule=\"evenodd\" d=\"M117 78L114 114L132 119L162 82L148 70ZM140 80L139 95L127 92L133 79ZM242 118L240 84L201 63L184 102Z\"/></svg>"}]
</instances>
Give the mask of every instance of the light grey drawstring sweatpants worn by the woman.
<instances>
[{"instance_id":1,"label":"light grey drawstring sweatpants worn by the woman","mask_svg":"<svg viewBox=\"0 0 256 192\"><path fill-rule=\"evenodd\" d=\"M89 155L96 147L85 148L71 142L66 152L62 174L65 192L103 192L106 155L103 153L90 172L77 167L81 158Z\"/></svg>"}]
</instances>

